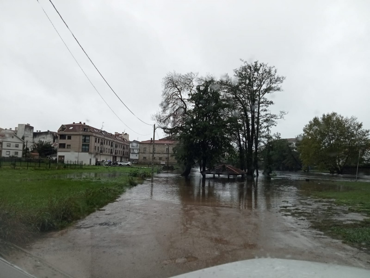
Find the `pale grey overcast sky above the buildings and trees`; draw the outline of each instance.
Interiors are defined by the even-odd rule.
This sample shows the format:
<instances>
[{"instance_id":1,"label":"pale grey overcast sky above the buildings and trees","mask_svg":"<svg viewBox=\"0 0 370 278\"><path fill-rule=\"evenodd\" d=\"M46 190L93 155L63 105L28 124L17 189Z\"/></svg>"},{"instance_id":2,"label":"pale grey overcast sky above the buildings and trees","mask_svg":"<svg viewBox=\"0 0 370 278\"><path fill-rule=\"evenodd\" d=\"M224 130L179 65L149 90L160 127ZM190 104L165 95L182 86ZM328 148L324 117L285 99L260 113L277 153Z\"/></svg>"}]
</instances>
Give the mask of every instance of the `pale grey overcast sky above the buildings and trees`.
<instances>
[{"instance_id":1,"label":"pale grey overcast sky above the buildings and trees","mask_svg":"<svg viewBox=\"0 0 370 278\"><path fill-rule=\"evenodd\" d=\"M104 83L48 0L39 0L117 119L88 82L36 0L0 1L1 128L86 122L130 139L152 137ZM240 58L286 76L274 132L295 137L315 115L355 115L370 129L370 1L53 0L105 79L151 121L169 71L232 75ZM158 130L159 136L162 132ZM157 137L157 135L156 135Z\"/></svg>"}]
</instances>

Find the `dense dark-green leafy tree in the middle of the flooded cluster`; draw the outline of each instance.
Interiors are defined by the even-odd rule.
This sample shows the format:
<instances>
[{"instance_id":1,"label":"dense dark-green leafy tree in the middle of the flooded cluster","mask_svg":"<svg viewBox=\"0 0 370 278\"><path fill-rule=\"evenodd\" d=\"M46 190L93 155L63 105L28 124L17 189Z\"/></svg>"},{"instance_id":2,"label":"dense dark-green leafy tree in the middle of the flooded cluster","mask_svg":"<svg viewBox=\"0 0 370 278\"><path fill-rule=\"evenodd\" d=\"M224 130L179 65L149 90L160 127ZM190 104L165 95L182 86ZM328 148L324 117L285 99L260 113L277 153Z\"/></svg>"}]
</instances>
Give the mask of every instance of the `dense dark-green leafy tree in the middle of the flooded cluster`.
<instances>
[{"instance_id":1,"label":"dense dark-green leafy tree in the middle of the flooded cluster","mask_svg":"<svg viewBox=\"0 0 370 278\"><path fill-rule=\"evenodd\" d=\"M173 128L180 142L175 157L187 166L198 163L205 178L206 168L232 148L228 129L235 117L229 115L231 105L220 93L216 80L210 77L201 80L189 102L194 105L187 108L184 124ZM186 170L184 175L189 174L189 168Z\"/></svg>"}]
</instances>

